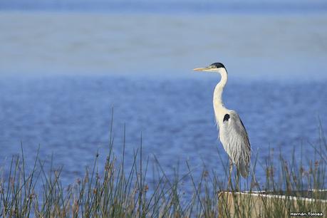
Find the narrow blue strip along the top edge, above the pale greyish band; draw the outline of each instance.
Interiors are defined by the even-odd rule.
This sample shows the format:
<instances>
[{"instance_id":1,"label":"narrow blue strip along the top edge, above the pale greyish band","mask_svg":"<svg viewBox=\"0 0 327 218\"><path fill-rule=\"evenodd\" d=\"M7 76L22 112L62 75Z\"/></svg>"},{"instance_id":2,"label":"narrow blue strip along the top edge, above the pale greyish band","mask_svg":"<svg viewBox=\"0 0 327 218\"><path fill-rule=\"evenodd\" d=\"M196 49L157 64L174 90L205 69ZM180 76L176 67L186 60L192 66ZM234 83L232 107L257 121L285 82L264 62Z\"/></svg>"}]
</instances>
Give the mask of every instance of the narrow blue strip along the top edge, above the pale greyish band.
<instances>
[{"instance_id":1,"label":"narrow blue strip along the top edge, above the pale greyish band","mask_svg":"<svg viewBox=\"0 0 327 218\"><path fill-rule=\"evenodd\" d=\"M326 13L327 4L323 0L287 0L287 1L76 1L76 0L0 0L3 10L41 10L41 11L110 11L128 13Z\"/></svg>"}]
</instances>

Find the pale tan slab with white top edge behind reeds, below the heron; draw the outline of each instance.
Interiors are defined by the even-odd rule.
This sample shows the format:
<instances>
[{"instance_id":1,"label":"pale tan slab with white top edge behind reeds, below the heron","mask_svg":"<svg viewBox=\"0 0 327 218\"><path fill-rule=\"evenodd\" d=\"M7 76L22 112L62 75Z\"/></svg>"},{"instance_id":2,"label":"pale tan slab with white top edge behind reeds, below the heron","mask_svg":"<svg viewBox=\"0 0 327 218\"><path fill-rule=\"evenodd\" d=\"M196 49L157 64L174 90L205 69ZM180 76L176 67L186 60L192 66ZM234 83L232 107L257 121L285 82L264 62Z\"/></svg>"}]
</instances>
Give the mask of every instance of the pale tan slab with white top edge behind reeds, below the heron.
<instances>
[{"instance_id":1,"label":"pale tan slab with white top edge behind reeds, below the heron","mask_svg":"<svg viewBox=\"0 0 327 218\"><path fill-rule=\"evenodd\" d=\"M306 213L303 216L314 212L326 216L326 208L326 199L286 196L281 193L219 192L218 199L219 217L295 217L301 212Z\"/></svg>"}]
</instances>

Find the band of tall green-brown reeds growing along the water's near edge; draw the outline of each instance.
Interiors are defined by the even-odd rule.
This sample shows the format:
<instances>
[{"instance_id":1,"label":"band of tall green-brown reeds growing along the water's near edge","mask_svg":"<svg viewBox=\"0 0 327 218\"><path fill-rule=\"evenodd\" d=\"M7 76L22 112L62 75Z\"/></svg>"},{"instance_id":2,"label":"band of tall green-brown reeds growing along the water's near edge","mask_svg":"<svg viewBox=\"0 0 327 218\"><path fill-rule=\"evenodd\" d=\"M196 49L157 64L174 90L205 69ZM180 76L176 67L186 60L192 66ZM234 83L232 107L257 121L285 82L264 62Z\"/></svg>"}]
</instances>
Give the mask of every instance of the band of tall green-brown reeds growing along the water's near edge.
<instances>
[{"instance_id":1,"label":"band of tall green-brown reeds growing along the water's near edge","mask_svg":"<svg viewBox=\"0 0 327 218\"><path fill-rule=\"evenodd\" d=\"M227 163L222 161L223 177L204 169L202 177L197 179L188 163L189 172L182 176L176 173L173 178L167 177L157 163L157 176L150 182L146 179L149 161L142 157L142 142L140 149L135 151L133 165L125 166L125 155L118 158L113 153L112 133L111 130L110 152L104 165L98 163L97 155L85 177L68 187L61 183L62 167L46 172L45 161L39 157L36 157L33 170L26 172L22 147L21 155L13 157L10 168L4 171L8 173L0 177L0 217L245 217L254 209L251 199L246 198L232 199L234 208L230 208L227 201L220 202L222 207L218 207L222 200L218 199L219 192L227 188ZM316 154L310 155L316 157L315 160L299 160L294 156L286 161L281 156L277 160L269 157L265 164L259 165L266 172L262 182L256 181L254 172L258 164L255 158L250 182L244 183L245 189L249 192L283 190L291 195L299 190L325 188L327 143L323 134L318 144L314 147ZM186 180L192 187L189 197L185 197L181 186ZM234 184L232 191L235 187ZM313 194L313 199L319 198L321 196ZM257 217L289 217L290 211L284 209L285 205L301 211L323 209L315 200L310 204L279 200L274 204L264 203Z\"/></svg>"}]
</instances>

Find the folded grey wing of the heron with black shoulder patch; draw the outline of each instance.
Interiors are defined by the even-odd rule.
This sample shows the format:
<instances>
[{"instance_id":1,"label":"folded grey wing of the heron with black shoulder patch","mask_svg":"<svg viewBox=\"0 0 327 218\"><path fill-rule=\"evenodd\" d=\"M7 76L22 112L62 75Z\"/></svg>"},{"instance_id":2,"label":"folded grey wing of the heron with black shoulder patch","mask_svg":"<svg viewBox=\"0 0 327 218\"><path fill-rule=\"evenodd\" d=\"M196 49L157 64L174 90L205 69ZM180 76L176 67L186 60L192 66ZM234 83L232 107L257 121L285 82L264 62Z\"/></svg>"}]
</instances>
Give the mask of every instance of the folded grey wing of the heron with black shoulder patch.
<instances>
[{"instance_id":1,"label":"folded grey wing of the heron with black shoulder patch","mask_svg":"<svg viewBox=\"0 0 327 218\"><path fill-rule=\"evenodd\" d=\"M237 166L242 177L249 175L251 145L242 120L239 115L231 110L224 115L219 136L229 157Z\"/></svg>"}]
</instances>

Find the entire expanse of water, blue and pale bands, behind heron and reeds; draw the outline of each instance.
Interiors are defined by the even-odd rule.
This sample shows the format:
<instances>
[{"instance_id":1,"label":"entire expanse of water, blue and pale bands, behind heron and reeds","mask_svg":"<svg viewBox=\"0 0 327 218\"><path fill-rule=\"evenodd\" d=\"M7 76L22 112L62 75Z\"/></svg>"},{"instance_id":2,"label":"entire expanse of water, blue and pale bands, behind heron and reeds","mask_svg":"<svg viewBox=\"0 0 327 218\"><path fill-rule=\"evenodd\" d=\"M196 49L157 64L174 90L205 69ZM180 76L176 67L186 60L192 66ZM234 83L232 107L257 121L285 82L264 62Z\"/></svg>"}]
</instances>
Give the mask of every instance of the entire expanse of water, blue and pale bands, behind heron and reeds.
<instances>
[{"instance_id":1,"label":"entire expanse of water, blue and pale bands, behind heron and reeds","mask_svg":"<svg viewBox=\"0 0 327 218\"><path fill-rule=\"evenodd\" d=\"M42 160L64 166L63 183L74 182L97 152L105 162L114 110L126 166L142 134L143 157L168 176L188 161L194 177L203 165L224 177L219 76L191 73L215 61L227 66L224 103L259 163L271 149L313 159L319 122L327 132L326 11L320 0L0 0L0 172L21 144L31 168L40 146Z\"/></svg>"}]
</instances>

